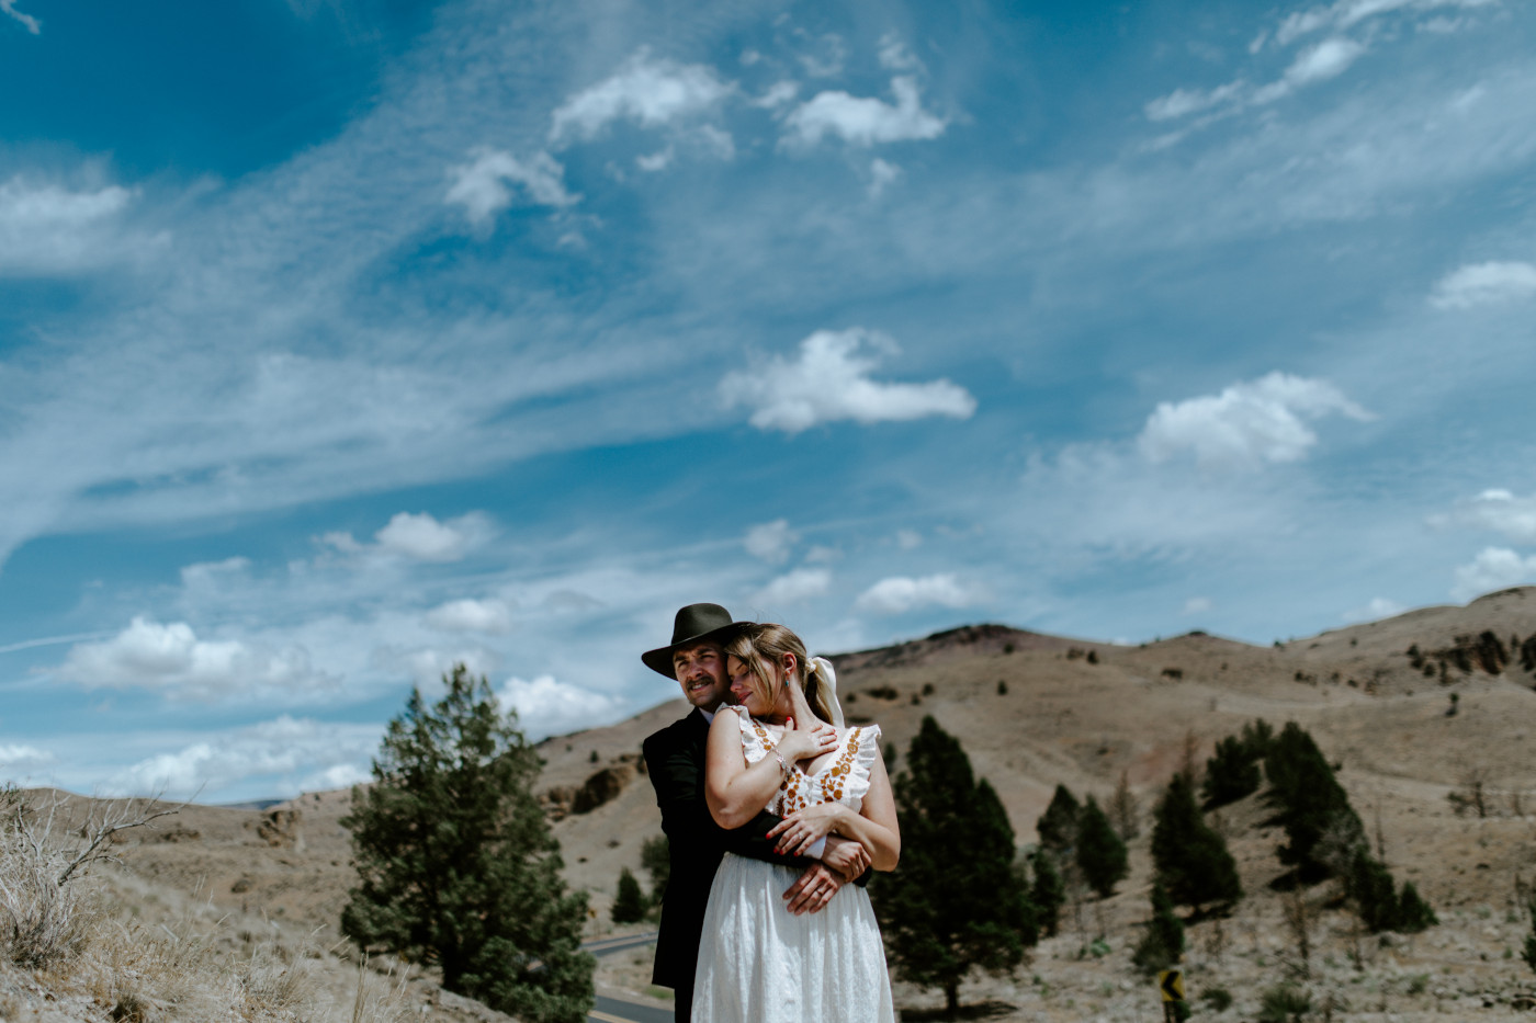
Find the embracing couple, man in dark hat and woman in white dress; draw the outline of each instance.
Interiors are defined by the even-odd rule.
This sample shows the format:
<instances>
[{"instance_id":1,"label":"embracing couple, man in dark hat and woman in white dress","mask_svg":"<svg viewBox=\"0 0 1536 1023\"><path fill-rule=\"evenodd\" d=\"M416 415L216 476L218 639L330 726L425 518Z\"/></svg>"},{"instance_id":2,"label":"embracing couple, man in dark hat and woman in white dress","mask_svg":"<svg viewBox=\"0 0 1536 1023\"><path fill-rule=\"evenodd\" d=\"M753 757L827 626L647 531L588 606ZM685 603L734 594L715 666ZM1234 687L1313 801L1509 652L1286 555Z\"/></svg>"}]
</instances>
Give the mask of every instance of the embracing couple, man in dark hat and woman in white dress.
<instances>
[{"instance_id":1,"label":"embracing couple, man in dark hat and woman in white dress","mask_svg":"<svg viewBox=\"0 0 1536 1023\"><path fill-rule=\"evenodd\" d=\"M879 727L843 725L799 636L717 604L641 659L693 705L645 740L671 852L651 978L677 1023L892 1023L863 889L902 846Z\"/></svg>"}]
</instances>

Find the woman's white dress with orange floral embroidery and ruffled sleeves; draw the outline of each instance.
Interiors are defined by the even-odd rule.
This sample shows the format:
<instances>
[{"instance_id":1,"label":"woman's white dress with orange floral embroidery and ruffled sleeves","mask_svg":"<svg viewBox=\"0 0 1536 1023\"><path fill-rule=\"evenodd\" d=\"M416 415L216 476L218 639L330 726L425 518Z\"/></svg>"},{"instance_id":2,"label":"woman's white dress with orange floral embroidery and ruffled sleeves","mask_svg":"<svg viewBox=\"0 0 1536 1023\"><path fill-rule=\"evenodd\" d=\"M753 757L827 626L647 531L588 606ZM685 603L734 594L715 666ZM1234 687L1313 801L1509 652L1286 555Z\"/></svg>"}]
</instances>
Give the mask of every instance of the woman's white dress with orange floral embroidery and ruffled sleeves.
<instances>
[{"instance_id":1,"label":"woman's white dress with orange floral embroidery and ruffled sleeves","mask_svg":"<svg viewBox=\"0 0 1536 1023\"><path fill-rule=\"evenodd\" d=\"M734 708L722 708L722 713ZM774 733L737 713L748 763L768 756ZM880 728L839 728L831 760L790 773L768 809L788 816L837 800L852 809L869 791ZM791 866L727 852L710 888L694 974L693 1023L894 1023L885 946L869 894L843 885L820 912L791 915Z\"/></svg>"}]
</instances>

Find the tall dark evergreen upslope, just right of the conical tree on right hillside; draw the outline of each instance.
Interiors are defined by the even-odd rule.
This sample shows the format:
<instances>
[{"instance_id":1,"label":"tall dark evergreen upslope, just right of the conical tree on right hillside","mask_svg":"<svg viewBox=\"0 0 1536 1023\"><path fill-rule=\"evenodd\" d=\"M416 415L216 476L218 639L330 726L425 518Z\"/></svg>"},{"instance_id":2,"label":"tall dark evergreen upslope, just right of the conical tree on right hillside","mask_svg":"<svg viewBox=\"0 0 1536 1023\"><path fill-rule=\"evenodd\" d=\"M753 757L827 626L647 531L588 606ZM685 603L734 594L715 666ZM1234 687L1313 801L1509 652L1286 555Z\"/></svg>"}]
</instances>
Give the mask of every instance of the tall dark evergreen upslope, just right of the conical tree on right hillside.
<instances>
[{"instance_id":1,"label":"tall dark evergreen upslope, just right of the conical tree on right hillside","mask_svg":"<svg viewBox=\"0 0 1536 1023\"><path fill-rule=\"evenodd\" d=\"M1318 743L1296 722L1286 722L1270 743L1264 773L1289 839L1278 849L1279 862L1298 868L1304 877L1350 869L1355 846L1364 843L1366 828ZM1330 837L1332 848L1319 849L1324 836Z\"/></svg>"}]
</instances>

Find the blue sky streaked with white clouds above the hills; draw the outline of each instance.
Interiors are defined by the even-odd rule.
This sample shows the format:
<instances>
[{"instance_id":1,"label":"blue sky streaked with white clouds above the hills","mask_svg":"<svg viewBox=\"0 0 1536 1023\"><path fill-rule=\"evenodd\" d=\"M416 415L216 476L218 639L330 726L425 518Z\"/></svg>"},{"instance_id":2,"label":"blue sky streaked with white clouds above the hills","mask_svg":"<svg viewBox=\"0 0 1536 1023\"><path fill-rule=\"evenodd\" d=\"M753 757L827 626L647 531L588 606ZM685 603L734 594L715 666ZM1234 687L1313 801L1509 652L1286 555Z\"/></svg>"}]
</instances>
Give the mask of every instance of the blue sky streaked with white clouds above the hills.
<instances>
[{"instance_id":1,"label":"blue sky streaked with white clouds above the hills","mask_svg":"<svg viewBox=\"0 0 1536 1023\"><path fill-rule=\"evenodd\" d=\"M693 601L1269 642L1536 582L1536 15L0 0L0 774L286 796Z\"/></svg>"}]
</instances>

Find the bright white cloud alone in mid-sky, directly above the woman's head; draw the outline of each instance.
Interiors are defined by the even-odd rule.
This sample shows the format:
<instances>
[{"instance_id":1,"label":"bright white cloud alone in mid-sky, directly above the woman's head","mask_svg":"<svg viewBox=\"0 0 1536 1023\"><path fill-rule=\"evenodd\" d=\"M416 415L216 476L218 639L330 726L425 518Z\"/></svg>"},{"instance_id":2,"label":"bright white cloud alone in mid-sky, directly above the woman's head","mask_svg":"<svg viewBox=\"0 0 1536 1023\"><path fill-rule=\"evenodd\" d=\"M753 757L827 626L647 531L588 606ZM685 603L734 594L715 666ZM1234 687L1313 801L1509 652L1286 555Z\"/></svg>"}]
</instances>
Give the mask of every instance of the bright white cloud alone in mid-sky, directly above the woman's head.
<instances>
[{"instance_id":1,"label":"bright white cloud alone in mid-sky, directly above the woman's head","mask_svg":"<svg viewBox=\"0 0 1536 1023\"><path fill-rule=\"evenodd\" d=\"M727 404L756 409L751 424L760 430L799 433L817 422L854 419L885 422L952 416L966 419L975 398L948 379L926 384L885 384L869 379L879 364L862 349L895 350L880 333L852 327L817 330L800 343L800 358L773 358L766 366L728 373L720 381Z\"/></svg>"}]
</instances>

